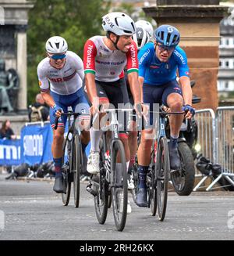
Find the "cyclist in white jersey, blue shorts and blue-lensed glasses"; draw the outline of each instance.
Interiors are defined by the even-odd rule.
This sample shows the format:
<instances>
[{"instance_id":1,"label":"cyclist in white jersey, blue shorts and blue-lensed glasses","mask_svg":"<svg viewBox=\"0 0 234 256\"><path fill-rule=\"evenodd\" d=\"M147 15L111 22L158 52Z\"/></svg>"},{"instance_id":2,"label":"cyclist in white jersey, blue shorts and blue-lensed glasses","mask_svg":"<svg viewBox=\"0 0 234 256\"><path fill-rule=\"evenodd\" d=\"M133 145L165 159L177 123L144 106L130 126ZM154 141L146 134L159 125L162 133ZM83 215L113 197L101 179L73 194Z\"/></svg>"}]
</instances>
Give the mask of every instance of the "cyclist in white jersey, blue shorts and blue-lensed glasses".
<instances>
[{"instance_id":1,"label":"cyclist in white jersey, blue shorts and blue-lensed glasses","mask_svg":"<svg viewBox=\"0 0 234 256\"><path fill-rule=\"evenodd\" d=\"M57 130L53 129L52 154L55 164L56 193L63 193L62 177L62 142L66 126L66 117L61 116L61 111L67 112L68 106L73 111L82 113L79 116L82 130L82 149L85 150L90 140L89 105L83 96L83 62L74 52L67 51L68 45L64 38L55 36L48 39L45 45L47 58L41 60L37 67L37 75L41 88L41 95L45 103L50 106L51 127L55 127L55 117L58 119Z\"/></svg>"}]
</instances>

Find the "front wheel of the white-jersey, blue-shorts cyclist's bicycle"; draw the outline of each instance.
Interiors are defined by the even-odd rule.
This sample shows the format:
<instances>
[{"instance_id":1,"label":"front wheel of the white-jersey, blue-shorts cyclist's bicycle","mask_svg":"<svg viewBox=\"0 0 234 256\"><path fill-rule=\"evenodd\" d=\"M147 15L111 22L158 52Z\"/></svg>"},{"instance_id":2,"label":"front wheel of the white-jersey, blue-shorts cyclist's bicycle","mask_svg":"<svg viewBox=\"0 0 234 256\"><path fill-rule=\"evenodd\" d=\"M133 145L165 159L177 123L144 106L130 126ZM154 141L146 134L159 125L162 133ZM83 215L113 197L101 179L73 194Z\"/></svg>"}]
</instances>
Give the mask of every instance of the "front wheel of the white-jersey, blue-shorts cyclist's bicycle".
<instances>
[{"instance_id":1,"label":"front wheel of the white-jersey, blue-shorts cyclist's bicycle","mask_svg":"<svg viewBox=\"0 0 234 256\"><path fill-rule=\"evenodd\" d=\"M80 204L80 172L83 168L83 155L79 135L73 139L73 193L75 207Z\"/></svg>"}]
</instances>

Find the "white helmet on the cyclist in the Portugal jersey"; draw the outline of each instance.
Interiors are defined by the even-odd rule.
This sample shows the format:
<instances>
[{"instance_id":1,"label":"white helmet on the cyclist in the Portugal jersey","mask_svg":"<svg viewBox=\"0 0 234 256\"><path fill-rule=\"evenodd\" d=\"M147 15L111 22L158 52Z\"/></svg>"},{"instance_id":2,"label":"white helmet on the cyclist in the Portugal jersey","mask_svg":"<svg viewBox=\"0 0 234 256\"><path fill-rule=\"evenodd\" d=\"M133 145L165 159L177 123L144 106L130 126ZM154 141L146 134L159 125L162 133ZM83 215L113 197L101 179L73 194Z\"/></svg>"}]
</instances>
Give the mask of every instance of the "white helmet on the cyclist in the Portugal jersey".
<instances>
[{"instance_id":1,"label":"white helmet on the cyclist in the Portugal jersey","mask_svg":"<svg viewBox=\"0 0 234 256\"><path fill-rule=\"evenodd\" d=\"M108 13L102 17L104 31L110 31L117 35L132 35L136 33L135 23L125 13Z\"/></svg>"}]
</instances>

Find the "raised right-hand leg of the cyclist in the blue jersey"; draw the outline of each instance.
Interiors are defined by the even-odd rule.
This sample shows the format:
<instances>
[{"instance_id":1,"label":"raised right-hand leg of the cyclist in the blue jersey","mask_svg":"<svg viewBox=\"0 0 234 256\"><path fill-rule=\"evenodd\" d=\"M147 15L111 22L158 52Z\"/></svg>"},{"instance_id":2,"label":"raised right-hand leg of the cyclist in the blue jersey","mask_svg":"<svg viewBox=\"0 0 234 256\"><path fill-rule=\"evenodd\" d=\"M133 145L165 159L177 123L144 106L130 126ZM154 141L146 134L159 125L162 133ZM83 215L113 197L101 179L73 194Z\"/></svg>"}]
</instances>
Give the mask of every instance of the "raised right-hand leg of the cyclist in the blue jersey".
<instances>
[{"instance_id":1,"label":"raised right-hand leg of the cyclist in the blue jersey","mask_svg":"<svg viewBox=\"0 0 234 256\"><path fill-rule=\"evenodd\" d=\"M162 103L170 108L172 112L180 112L183 107L183 96L181 89L177 81L169 82L162 96ZM180 168L178 138L181 124L183 122L183 115L172 115L170 117L170 142L169 142L169 153L170 153L170 165L173 170Z\"/></svg>"}]
</instances>

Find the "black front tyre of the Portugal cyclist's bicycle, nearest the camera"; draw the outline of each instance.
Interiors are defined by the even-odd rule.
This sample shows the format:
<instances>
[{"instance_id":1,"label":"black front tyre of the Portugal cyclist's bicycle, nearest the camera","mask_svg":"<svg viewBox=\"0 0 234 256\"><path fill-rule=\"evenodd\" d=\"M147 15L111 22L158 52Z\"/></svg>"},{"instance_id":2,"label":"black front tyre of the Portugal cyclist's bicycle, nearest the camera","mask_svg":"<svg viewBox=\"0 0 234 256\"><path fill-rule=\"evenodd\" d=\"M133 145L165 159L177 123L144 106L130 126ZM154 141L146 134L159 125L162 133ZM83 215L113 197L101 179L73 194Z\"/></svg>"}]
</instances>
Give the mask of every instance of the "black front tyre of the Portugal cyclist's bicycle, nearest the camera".
<instances>
[{"instance_id":1,"label":"black front tyre of the Portugal cyclist's bicycle, nearest the camera","mask_svg":"<svg viewBox=\"0 0 234 256\"><path fill-rule=\"evenodd\" d=\"M117 203L117 197L119 188L116 187L116 172L115 172L115 164L117 153L119 152L120 162L122 164L122 213L119 212L119 207ZM126 225L126 215L127 215L127 203L128 203L128 185L127 185L127 174L126 174L126 156L125 150L122 145L122 142L119 139L115 139L112 142L112 163L111 163L111 171L112 171L112 208L113 215L115 219L115 226L118 231L122 231ZM117 196L116 196L117 195Z\"/></svg>"}]
</instances>

